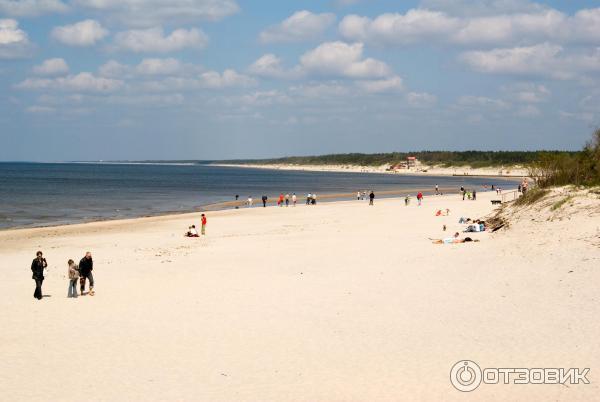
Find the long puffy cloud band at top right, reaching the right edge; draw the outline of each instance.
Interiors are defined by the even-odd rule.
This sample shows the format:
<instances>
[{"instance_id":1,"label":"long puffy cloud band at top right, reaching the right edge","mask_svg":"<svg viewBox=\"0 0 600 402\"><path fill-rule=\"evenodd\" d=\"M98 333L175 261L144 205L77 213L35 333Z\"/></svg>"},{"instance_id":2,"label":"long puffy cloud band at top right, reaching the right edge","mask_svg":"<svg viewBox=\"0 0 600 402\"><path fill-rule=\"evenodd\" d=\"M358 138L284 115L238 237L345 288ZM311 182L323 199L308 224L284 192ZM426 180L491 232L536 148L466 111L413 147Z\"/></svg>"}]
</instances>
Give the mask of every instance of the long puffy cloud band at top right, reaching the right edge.
<instances>
[{"instance_id":1,"label":"long puffy cloud band at top right, reaching the right edge","mask_svg":"<svg viewBox=\"0 0 600 402\"><path fill-rule=\"evenodd\" d=\"M406 14L386 13L374 19L348 15L340 34L351 41L379 45L449 43L455 45L597 43L600 8L567 15L554 9L536 12L456 17L442 11L411 9Z\"/></svg>"}]
</instances>

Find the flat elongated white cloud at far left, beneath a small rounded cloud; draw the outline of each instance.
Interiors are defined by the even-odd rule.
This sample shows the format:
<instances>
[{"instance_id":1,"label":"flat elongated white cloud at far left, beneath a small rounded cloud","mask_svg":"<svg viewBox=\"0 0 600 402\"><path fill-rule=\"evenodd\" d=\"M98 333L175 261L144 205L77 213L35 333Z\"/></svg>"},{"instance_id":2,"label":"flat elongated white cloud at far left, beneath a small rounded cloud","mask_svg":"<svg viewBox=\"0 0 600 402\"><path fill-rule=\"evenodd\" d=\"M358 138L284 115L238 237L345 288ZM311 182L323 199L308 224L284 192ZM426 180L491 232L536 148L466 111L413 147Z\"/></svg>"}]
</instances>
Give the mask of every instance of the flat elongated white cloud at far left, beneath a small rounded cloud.
<instances>
[{"instance_id":1,"label":"flat elongated white cloud at far left, beneath a small rounded cloud","mask_svg":"<svg viewBox=\"0 0 600 402\"><path fill-rule=\"evenodd\" d=\"M16 85L18 89L61 90L71 92L112 92L121 88L120 80L96 77L91 73L79 73L58 78L28 78Z\"/></svg>"}]
</instances>

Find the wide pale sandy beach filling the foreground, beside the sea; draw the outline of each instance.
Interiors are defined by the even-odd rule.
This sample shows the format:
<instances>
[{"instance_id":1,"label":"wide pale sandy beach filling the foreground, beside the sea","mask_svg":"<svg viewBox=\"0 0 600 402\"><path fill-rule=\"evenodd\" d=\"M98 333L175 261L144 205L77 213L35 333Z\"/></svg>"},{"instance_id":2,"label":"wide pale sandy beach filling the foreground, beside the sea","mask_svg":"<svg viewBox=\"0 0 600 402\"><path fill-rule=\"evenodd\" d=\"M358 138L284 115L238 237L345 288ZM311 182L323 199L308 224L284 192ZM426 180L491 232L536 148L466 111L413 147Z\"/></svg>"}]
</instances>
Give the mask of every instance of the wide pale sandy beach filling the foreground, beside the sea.
<instances>
[{"instance_id":1,"label":"wide pale sandy beach filling the foreground, beside the sea","mask_svg":"<svg viewBox=\"0 0 600 402\"><path fill-rule=\"evenodd\" d=\"M218 211L198 239L183 237L198 214L2 231L1 399L594 400L598 199L515 212L508 229L471 234L477 243L429 240L496 198ZM67 299L66 261L87 250L96 295ZM466 394L449 380L463 359L590 368L590 384Z\"/></svg>"}]
</instances>

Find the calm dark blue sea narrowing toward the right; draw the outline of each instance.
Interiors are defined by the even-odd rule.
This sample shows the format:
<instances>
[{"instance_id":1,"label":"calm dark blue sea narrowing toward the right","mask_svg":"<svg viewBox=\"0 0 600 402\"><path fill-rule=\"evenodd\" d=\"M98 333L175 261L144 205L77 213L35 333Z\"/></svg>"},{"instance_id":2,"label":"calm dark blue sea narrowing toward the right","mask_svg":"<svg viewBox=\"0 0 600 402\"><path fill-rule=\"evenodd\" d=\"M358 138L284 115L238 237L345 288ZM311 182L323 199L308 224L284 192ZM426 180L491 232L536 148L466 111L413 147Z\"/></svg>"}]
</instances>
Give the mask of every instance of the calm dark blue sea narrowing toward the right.
<instances>
[{"instance_id":1,"label":"calm dark blue sea narrowing toward the right","mask_svg":"<svg viewBox=\"0 0 600 402\"><path fill-rule=\"evenodd\" d=\"M0 163L0 229L193 211L262 194L507 186L505 180L293 172L200 165ZM301 198L301 197L300 197Z\"/></svg>"}]
</instances>

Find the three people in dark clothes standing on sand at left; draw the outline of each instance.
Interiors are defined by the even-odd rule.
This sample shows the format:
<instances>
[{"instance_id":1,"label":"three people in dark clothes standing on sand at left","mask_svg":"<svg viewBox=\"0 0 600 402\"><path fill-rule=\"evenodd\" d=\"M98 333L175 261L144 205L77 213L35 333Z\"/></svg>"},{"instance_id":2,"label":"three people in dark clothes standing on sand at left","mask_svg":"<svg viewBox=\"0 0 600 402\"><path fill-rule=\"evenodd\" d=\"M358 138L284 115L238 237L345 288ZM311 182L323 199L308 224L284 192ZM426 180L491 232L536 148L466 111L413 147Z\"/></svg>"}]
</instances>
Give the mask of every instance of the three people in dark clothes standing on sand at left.
<instances>
[{"instance_id":1,"label":"three people in dark clothes standing on sand at left","mask_svg":"<svg viewBox=\"0 0 600 402\"><path fill-rule=\"evenodd\" d=\"M85 293L85 284L89 282L89 294L93 296L94 292L94 275L92 271L94 270L94 260L92 259L92 253L87 252L85 256L79 261L79 265L75 264L75 261L69 260L67 261L67 277L69 278L69 290L67 292L67 297L77 297L77 282L79 282L79 289L81 292L81 296L84 296ZM32 279L35 281L35 291L33 292L33 297L42 300L43 292L42 292L42 283L44 282L44 271L48 268L48 262L46 258L44 258L44 254L41 251L36 253L36 257L31 262L31 272Z\"/></svg>"}]
</instances>

